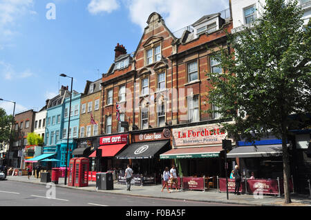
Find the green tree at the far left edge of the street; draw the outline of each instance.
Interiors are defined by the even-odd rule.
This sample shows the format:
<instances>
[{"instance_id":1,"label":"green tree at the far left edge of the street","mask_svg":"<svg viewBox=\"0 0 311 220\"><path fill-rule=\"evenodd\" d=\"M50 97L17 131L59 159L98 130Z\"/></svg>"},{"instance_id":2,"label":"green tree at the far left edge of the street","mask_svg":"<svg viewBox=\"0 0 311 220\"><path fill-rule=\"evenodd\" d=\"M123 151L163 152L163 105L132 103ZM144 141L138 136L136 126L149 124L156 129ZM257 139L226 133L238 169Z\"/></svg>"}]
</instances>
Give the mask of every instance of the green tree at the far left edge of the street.
<instances>
[{"instance_id":1,"label":"green tree at the far left edge of the street","mask_svg":"<svg viewBox=\"0 0 311 220\"><path fill-rule=\"evenodd\" d=\"M0 143L10 143L12 115L7 115L3 108L0 108Z\"/></svg>"}]
</instances>

